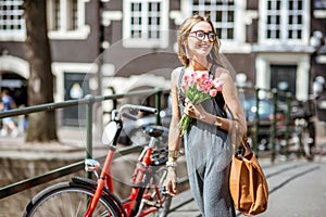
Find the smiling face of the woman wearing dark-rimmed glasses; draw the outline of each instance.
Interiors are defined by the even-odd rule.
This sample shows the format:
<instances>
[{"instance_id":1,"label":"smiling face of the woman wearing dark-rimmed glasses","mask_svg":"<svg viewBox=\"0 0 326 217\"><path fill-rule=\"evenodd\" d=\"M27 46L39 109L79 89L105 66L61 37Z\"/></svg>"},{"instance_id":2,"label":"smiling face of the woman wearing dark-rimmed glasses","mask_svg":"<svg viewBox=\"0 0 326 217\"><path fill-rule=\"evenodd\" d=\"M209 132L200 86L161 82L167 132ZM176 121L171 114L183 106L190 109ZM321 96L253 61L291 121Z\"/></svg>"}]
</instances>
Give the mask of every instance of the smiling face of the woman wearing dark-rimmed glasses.
<instances>
[{"instance_id":1,"label":"smiling face of the woman wearing dark-rimmed glasses","mask_svg":"<svg viewBox=\"0 0 326 217\"><path fill-rule=\"evenodd\" d=\"M214 40L213 40L214 39ZM211 41L210 41L211 40ZM199 22L196 24L186 40L188 54L206 56L212 50L215 41L215 35L212 26L206 22Z\"/></svg>"}]
</instances>

